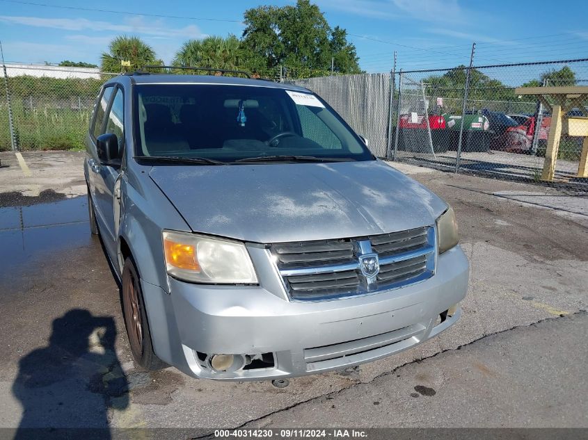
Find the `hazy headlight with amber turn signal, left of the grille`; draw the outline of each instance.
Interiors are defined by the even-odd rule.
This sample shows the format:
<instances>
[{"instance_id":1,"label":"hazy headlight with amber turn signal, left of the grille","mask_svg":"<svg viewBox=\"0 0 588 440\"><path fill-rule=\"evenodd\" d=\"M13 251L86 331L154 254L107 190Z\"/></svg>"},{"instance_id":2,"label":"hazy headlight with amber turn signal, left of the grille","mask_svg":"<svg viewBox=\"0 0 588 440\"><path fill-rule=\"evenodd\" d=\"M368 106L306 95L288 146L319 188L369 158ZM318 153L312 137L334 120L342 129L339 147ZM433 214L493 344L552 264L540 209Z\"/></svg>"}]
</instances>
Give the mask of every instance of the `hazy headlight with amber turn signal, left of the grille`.
<instances>
[{"instance_id":1,"label":"hazy headlight with amber turn signal, left of the grille","mask_svg":"<svg viewBox=\"0 0 588 440\"><path fill-rule=\"evenodd\" d=\"M164 231L169 275L208 284L255 284L257 275L243 243Z\"/></svg>"}]
</instances>

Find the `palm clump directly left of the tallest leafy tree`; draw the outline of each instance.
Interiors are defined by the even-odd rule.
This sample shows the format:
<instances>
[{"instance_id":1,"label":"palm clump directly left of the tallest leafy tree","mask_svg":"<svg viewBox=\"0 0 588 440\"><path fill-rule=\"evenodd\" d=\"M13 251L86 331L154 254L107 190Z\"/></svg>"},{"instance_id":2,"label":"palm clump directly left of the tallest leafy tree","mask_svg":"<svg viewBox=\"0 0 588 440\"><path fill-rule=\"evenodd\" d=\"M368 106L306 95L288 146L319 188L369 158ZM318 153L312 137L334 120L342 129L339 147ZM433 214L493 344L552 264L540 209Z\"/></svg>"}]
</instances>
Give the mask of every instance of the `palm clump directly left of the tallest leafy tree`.
<instances>
[{"instance_id":1,"label":"palm clump directly left of the tallest leafy tree","mask_svg":"<svg viewBox=\"0 0 588 440\"><path fill-rule=\"evenodd\" d=\"M188 40L176 52L173 65L210 67L213 69L239 70L245 66L244 50L235 35L207 37L203 40ZM178 70L193 74L194 72Z\"/></svg>"}]
</instances>

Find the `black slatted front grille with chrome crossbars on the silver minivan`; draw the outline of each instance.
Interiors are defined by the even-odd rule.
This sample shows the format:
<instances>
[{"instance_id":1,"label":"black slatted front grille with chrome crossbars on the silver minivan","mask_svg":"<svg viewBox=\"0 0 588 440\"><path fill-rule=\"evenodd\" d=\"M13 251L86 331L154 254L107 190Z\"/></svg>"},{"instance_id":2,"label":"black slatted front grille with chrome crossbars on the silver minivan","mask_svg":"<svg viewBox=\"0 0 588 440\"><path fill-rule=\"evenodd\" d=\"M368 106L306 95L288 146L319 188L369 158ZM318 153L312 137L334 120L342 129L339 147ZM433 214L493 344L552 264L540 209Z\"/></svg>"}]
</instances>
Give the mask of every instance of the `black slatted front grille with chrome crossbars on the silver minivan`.
<instances>
[{"instance_id":1,"label":"black slatted front grille with chrome crossbars on the silver minivan","mask_svg":"<svg viewBox=\"0 0 588 440\"><path fill-rule=\"evenodd\" d=\"M276 243L269 250L292 300L328 300L397 288L431 277L435 229L420 227L363 238ZM379 261L379 272L367 273L362 266L364 259Z\"/></svg>"}]
</instances>

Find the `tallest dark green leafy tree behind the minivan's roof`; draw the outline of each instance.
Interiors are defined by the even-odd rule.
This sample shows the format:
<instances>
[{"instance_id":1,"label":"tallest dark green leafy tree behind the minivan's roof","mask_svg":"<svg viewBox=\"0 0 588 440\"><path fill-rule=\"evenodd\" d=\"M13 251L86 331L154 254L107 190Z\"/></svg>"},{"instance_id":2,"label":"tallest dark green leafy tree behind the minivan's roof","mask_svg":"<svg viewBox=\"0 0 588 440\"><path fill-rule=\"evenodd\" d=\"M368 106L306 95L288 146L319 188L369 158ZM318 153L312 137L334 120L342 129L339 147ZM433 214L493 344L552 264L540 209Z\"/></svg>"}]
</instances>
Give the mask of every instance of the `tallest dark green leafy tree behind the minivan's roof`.
<instances>
[{"instance_id":1,"label":"tallest dark green leafy tree behind the minivan's roof","mask_svg":"<svg viewBox=\"0 0 588 440\"><path fill-rule=\"evenodd\" d=\"M356 48L347 31L331 29L318 6L297 0L296 6L259 6L244 15L244 49L251 62L266 68L279 65L296 76L319 76L331 71L359 73Z\"/></svg>"}]
</instances>

